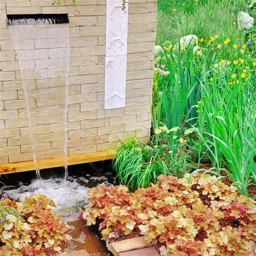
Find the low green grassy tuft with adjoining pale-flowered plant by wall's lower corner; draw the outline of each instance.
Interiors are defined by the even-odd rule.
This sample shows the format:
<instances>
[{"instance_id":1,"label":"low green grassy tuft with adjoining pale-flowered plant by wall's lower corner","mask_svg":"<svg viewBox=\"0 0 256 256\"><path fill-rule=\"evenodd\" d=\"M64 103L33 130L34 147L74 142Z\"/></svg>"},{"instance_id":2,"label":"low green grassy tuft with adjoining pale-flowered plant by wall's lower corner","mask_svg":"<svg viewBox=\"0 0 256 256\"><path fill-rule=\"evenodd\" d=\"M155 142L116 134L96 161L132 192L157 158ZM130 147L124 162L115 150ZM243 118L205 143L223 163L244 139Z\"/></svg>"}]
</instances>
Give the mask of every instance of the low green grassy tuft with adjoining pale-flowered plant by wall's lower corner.
<instances>
[{"instance_id":1,"label":"low green grassy tuft with adjoining pale-flowered plant by wall's lower corner","mask_svg":"<svg viewBox=\"0 0 256 256\"><path fill-rule=\"evenodd\" d=\"M182 137L180 141L176 140L173 152L167 142L169 135L161 128L167 130L166 126L158 129L162 133L156 135L157 142L153 139L152 143L146 144L134 138L120 142L116 148L113 167L120 184L131 191L156 183L160 175L183 177L191 167L186 161L188 154L184 151L186 140Z\"/></svg>"}]
</instances>

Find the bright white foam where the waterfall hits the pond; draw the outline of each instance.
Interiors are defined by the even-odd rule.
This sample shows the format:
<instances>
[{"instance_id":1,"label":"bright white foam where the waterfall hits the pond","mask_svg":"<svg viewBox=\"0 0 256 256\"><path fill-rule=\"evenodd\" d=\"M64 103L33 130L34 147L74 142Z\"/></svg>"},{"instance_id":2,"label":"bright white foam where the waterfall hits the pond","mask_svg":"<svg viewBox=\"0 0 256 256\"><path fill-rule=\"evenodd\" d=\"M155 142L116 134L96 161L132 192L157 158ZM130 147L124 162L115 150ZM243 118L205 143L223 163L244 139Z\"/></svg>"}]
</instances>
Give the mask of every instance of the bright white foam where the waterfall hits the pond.
<instances>
[{"instance_id":1,"label":"bright white foam where the waterfall hits the pond","mask_svg":"<svg viewBox=\"0 0 256 256\"><path fill-rule=\"evenodd\" d=\"M79 177L79 180L83 180ZM84 182L87 180L84 179ZM35 193L44 194L51 198L57 207L54 209L58 215L77 214L82 207L88 204L88 187L80 185L76 178L68 177L66 187L63 184L63 178L50 178L42 180L41 187L39 180L33 180L31 184L19 184L18 188L4 186L2 189L12 199L23 202L26 197L31 197Z\"/></svg>"}]
</instances>

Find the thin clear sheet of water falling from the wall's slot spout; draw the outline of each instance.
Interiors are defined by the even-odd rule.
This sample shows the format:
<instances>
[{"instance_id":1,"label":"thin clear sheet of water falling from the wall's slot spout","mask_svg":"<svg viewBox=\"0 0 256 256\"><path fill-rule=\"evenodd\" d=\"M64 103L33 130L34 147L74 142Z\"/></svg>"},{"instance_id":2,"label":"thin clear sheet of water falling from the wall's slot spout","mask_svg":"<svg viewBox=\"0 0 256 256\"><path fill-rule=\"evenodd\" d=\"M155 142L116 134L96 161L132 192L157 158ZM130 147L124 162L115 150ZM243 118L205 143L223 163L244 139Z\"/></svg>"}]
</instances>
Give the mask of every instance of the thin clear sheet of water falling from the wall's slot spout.
<instances>
[{"instance_id":1,"label":"thin clear sheet of water falling from the wall's slot spout","mask_svg":"<svg viewBox=\"0 0 256 256\"><path fill-rule=\"evenodd\" d=\"M9 25L22 73L38 185L41 160L60 157L67 186L69 26L50 18L9 19Z\"/></svg>"}]
</instances>

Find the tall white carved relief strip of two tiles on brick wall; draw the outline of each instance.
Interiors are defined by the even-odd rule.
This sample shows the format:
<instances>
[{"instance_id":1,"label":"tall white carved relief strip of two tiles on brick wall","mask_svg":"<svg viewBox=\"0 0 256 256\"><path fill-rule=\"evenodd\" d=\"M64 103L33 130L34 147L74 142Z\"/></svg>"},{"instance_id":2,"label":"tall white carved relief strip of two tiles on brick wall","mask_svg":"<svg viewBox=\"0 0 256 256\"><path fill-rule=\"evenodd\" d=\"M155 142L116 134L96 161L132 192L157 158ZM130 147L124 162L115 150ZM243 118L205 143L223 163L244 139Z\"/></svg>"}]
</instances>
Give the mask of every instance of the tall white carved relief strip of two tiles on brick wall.
<instances>
[{"instance_id":1,"label":"tall white carved relief strip of two tiles on brick wall","mask_svg":"<svg viewBox=\"0 0 256 256\"><path fill-rule=\"evenodd\" d=\"M124 108L126 89L128 1L106 0L105 109Z\"/></svg>"}]
</instances>

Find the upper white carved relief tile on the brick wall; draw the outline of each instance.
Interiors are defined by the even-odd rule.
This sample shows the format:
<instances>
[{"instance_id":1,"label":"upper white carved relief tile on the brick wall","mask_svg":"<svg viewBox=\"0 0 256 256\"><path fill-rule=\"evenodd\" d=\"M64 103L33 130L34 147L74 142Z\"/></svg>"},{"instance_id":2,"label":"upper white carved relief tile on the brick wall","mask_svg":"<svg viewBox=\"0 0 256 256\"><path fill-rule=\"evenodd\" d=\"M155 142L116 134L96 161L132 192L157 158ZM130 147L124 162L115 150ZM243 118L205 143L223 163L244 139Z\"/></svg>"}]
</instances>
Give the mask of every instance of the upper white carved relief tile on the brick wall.
<instances>
[{"instance_id":1,"label":"upper white carved relief tile on the brick wall","mask_svg":"<svg viewBox=\"0 0 256 256\"><path fill-rule=\"evenodd\" d=\"M106 1L106 56L127 54L128 7L122 0Z\"/></svg>"}]
</instances>

